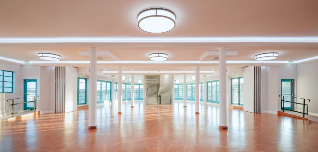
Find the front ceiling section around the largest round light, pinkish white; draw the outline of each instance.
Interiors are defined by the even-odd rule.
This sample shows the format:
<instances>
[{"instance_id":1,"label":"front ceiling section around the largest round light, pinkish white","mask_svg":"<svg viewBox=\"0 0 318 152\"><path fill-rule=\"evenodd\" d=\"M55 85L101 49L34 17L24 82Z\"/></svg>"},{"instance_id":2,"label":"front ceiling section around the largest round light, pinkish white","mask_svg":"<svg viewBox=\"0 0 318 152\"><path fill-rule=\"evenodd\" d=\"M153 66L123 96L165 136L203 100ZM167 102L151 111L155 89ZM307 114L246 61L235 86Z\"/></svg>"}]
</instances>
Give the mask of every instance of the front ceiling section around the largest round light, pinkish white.
<instances>
[{"instance_id":1,"label":"front ceiling section around the largest round light, pinkish white","mask_svg":"<svg viewBox=\"0 0 318 152\"><path fill-rule=\"evenodd\" d=\"M1 0L0 37L317 36L317 0ZM162 7L176 27L154 34L137 26L140 11Z\"/></svg>"}]
</instances>

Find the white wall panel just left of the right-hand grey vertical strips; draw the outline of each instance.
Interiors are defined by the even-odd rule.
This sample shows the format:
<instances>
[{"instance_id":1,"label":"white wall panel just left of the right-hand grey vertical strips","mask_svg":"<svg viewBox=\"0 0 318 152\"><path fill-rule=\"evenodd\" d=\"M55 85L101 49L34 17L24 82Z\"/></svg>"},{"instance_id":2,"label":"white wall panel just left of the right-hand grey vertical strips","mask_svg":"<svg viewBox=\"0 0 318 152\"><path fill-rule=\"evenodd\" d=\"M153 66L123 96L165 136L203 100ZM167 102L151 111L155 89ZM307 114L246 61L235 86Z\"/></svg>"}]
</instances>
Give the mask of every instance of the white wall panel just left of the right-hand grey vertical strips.
<instances>
[{"instance_id":1,"label":"white wall panel just left of the right-hand grey vertical strips","mask_svg":"<svg viewBox=\"0 0 318 152\"><path fill-rule=\"evenodd\" d=\"M244 73L244 111L254 112L254 67L246 67Z\"/></svg>"}]
</instances>

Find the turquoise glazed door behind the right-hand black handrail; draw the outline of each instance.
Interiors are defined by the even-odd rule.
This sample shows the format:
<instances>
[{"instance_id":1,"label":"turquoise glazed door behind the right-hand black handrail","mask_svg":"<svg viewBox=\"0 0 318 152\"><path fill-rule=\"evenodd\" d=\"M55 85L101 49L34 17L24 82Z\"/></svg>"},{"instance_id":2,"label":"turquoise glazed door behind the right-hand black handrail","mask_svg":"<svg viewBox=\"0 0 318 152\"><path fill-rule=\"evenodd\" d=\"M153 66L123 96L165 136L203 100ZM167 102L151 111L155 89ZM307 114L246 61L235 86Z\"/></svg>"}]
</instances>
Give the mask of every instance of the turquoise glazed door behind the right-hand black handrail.
<instances>
[{"instance_id":1,"label":"turquoise glazed door behind the right-hand black handrail","mask_svg":"<svg viewBox=\"0 0 318 152\"><path fill-rule=\"evenodd\" d=\"M294 79L281 79L281 100L294 102ZM294 110L294 103L284 102L284 108Z\"/></svg>"}]
</instances>

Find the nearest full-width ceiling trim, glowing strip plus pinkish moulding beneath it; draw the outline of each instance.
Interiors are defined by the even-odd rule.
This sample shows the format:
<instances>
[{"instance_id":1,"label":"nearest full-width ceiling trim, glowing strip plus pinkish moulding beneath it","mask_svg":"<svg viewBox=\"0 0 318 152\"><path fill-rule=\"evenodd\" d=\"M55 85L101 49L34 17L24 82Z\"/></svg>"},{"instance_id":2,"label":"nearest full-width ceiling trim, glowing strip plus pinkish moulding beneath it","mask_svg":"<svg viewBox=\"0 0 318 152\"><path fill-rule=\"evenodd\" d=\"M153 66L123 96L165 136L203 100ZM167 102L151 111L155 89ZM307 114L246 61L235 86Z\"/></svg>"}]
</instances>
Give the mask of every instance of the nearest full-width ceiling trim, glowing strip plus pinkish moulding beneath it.
<instances>
[{"instance_id":1,"label":"nearest full-width ceiling trim, glowing strip plus pinkish moulding beneath it","mask_svg":"<svg viewBox=\"0 0 318 152\"><path fill-rule=\"evenodd\" d=\"M2 37L0 46L318 46L318 36Z\"/></svg>"}]
</instances>

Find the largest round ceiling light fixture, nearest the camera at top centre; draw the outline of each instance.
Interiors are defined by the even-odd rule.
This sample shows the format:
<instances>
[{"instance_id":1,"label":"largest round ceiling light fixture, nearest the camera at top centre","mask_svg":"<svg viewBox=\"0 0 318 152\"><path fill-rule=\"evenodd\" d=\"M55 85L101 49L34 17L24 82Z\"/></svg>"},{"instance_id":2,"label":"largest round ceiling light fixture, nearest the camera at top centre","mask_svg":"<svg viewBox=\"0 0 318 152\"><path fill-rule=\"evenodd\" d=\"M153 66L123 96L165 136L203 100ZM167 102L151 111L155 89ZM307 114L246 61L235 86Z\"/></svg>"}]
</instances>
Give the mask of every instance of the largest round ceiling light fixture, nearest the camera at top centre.
<instances>
[{"instance_id":1,"label":"largest round ceiling light fixture, nearest the camera at top centre","mask_svg":"<svg viewBox=\"0 0 318 152\"><path fill-rule=\"evenodd\" d=\"M138 27L150 33L163 33L176 26L176 15L164 8L149 8L138 15Z\"/></svg>"}]
</instances>

